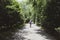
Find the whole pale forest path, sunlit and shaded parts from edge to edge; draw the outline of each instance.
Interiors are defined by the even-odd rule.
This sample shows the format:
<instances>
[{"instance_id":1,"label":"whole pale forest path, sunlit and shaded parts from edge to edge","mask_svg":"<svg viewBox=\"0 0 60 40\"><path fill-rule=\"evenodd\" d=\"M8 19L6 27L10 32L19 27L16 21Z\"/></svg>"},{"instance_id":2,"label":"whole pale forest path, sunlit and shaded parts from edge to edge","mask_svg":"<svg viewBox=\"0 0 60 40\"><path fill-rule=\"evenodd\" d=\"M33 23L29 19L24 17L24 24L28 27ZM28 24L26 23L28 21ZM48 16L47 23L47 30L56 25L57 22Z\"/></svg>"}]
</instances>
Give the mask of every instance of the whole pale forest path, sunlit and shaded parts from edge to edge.
<instances>
[{"instance_id":1,"label":"whole pale forest path, sunlit and shaded parts from edge to edge","mask_svg":"<svg viewBox=\"0 0 60 40\"><path fill-rule=\"evenodd\" d=\"M55 40L35 24L32 24L31 28L26 24L25 28L16 32L13 37L14 40Z\"/></svg>"}]
</instances>

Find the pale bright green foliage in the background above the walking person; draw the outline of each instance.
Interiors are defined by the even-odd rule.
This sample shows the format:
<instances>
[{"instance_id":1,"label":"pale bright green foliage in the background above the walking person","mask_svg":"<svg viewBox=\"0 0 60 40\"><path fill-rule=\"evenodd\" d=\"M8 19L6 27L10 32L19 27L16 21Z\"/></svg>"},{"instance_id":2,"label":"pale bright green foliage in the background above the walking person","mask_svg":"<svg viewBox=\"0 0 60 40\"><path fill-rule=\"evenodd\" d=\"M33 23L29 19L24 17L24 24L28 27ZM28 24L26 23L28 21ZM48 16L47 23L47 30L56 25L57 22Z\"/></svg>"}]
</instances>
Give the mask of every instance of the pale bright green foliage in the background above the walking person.
<instances>
[{"instance_id":1,"label":"pale bright green foliage in the background above the walking person","mask_svg":"<svg viewBox=\"0 0 60 40\"><path fill-rule=\"evenodd\" d=\"M23 15L24 17L24 22L25 23L28 23L30 19L32 19L32 16L33 16L33 6L31 3L28 3L27 2L22 2L20 3L21 5L21 14Z\"/></svg>"}]
</instances>

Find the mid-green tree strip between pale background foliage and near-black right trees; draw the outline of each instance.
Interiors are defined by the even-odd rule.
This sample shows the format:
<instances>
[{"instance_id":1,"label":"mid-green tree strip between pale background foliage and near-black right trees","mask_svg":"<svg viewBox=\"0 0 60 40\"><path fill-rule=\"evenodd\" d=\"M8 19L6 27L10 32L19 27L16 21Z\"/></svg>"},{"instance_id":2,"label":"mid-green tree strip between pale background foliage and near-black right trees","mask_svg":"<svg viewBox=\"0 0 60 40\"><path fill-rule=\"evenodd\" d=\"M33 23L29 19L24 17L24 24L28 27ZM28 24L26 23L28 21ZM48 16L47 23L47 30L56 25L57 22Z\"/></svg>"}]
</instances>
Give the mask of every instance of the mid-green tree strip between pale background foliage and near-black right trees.
<instances>
[{"instance_id":1,"label":"mid-green tree strip between pale background foliage and near-black right trees","mask_svg":"<svg viewBox=\"0 0 60 40\"><path fill-rule=\"evenodd\" d=\"M41 22L45 19L43 16L45 7L46 7L46 0L34 0L33 1L34 7L34 23L36 22L37 25L41 25Z\"/></svg>"}]
</instances>

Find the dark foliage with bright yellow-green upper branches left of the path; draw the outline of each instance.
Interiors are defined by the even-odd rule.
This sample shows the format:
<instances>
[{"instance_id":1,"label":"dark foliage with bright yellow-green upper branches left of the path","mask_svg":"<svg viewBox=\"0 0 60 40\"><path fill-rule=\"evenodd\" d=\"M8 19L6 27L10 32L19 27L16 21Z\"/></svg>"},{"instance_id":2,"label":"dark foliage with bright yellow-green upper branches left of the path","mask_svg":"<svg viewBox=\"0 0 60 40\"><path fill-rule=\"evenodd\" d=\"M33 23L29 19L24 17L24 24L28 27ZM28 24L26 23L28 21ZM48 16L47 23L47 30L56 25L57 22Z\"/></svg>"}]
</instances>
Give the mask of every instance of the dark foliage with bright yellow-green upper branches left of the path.
<instances>
[{"instance_id":1,"label":"dark foliage with bright yellow-green upper branches left of the path","mask_svg":"<svg viewBox=\"0 0 60 40\"><path fill-rule=\"evenodd\" d=\"M24 23L19 5L15 0L0 0L0 4L0 29L15 28L16 25Z\"/></svg>"}]
</instances>

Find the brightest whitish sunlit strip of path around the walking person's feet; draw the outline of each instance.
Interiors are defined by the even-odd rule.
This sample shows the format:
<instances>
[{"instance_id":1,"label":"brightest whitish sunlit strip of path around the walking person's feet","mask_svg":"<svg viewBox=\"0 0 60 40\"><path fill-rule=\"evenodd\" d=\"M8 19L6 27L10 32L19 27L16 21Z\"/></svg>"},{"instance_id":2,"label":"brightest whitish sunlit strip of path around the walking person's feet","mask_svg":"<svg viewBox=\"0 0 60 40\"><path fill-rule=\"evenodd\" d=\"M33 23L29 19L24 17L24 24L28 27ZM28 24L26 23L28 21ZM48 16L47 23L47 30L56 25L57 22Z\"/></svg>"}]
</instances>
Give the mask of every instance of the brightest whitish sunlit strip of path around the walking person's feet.
<instances>
[{"instance_id":1,"label":"brightest whitish sunlit strip of path around the walking person's feet","mask_svg":"<svg viewBox=\"0 0 60 40\"><path fill-rule=\"evenodd\" d=\"M45 36L42 36L42 35L36 33L36 32L38 32L37 30L39 30L39 29L40 28L37 27L35 24L32 24L31 28L30 28L29 24L26 24L26 29L24 29L24 31L28 32L27 35L24 35L26 40L28 40L28 39L30 39L30 40L48 40L48 39L46 39Z\"/></svg>"}]
</instances>

